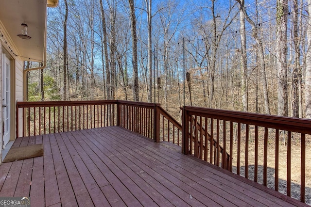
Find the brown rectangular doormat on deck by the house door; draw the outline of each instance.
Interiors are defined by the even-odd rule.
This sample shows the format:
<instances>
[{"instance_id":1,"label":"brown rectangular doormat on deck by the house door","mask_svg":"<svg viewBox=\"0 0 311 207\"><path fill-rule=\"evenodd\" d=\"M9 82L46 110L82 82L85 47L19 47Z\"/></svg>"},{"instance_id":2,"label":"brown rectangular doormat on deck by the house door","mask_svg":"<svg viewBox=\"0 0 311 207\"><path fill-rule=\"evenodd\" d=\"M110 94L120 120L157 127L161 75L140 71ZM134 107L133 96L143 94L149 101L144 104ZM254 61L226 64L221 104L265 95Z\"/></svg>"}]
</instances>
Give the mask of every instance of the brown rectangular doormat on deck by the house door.
<instances>
[{"instance_id":1,"label":"brown rectangular doormat on deck by the house door","mask_svg":"<svg viewBox=\"0 0 311 207\"><path fill-rule=\"evenodd\" d=\"M13 162L43 156L43 144L13 147L9 150L3 162Z\"/></svg>"}]
</instances>

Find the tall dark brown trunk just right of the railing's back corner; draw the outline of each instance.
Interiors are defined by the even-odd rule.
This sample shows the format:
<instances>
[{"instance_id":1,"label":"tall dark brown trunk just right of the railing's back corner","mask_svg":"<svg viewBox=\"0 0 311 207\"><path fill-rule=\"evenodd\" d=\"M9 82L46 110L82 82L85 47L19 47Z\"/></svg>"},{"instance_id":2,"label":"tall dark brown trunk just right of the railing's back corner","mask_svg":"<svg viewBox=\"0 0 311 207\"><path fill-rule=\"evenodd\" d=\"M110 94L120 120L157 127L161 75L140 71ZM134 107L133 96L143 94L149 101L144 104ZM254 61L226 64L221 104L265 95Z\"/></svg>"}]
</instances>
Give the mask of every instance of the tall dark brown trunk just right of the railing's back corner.
<instances>
[{"instance_id":1,"label":"tall dark brown trunk just right of the railing's back corner","mask_svg":"<svg viewBox=\"0 0 311 207\"><path fill-rule=\"evenodd\" d=\"M139 85L138 85L138 60L137 60L137 34L136 34L136 15L134 0L128 0L130 4L131 16L131 32L132 32L132 48L133 48L133 96L134 101L139 101Z\"/></svg>"}]
</instances>

